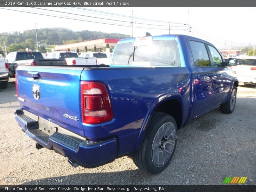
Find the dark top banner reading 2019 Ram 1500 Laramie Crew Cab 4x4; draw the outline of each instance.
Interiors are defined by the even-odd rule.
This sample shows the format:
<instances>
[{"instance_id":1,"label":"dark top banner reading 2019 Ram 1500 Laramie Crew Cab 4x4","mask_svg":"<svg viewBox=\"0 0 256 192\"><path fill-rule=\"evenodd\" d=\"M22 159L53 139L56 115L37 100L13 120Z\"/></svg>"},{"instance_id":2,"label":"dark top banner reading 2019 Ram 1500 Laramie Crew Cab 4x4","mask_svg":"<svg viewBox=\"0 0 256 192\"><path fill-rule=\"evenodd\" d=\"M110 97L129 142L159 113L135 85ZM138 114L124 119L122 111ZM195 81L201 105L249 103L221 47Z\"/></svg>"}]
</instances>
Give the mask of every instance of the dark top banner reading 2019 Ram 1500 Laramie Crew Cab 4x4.
<instances>
[{"instance_id":1,"label":"dark top banner reading 2019 Ram 1500 Laramie Crew Cab 4x4","mask_svg":"<svg viewBox=\"0 0 256 192\"><path fill-rule=\"evenodd\" d=\"M255 0L0 0L0 7L256 7Z\"/></svg>"}]
</instances>

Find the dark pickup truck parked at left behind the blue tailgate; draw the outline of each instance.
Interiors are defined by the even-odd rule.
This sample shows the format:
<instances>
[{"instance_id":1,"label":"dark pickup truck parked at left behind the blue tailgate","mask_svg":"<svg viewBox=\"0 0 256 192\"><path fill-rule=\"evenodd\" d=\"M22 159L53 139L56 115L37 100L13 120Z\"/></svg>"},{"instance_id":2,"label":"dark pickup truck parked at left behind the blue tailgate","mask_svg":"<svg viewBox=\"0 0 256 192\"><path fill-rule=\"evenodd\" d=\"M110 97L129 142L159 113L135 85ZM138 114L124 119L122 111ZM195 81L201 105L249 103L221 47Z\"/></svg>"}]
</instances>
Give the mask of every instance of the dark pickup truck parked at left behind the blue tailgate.
<instances>
[{"instance_id":1,"label":"dark pickup truck parked at left behind the blue tailgate","mask_svg":"<svg viewBox=\"0 0 256 192\"><path fill-rule=\"evenodd\" d=\"M19 65L65 65L65 59L44 59L41 52L18 51L10 52L5 61L9 66L9 77L15 77L15 70Z\"/></svg>"}]
</instances>

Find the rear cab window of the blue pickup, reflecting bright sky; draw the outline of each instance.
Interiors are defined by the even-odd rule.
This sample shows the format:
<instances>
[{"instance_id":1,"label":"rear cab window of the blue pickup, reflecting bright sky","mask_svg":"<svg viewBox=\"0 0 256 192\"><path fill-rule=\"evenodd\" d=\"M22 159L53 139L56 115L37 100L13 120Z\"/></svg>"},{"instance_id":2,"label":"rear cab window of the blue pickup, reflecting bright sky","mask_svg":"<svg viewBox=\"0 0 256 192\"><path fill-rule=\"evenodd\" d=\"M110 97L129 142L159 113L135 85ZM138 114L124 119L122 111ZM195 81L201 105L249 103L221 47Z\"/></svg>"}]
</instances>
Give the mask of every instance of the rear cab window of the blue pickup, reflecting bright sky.
<instances>
[{"instance_id":1,"label":"rear cab window of the blue pickup, reflecting bright sky","mask_svg":"<svg viewBox=\"0 0 256 192\"><path fill-rule=\"evenodd\" d=\"M117 44L112 65L181 66L176 40L152 40L152 37L141 39Z\"/></svg>"}]
</instances>

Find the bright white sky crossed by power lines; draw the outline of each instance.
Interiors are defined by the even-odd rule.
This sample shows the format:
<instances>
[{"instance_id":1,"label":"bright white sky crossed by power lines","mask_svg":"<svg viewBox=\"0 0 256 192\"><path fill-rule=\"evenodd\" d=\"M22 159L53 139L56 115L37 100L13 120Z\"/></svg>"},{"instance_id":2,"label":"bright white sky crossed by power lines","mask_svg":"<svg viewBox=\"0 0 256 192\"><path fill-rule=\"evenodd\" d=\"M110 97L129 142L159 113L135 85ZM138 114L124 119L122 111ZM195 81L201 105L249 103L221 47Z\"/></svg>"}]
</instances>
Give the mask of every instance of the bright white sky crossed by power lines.
<instances>
[{"instance_id":1,"label":"bright white sky crossed by power lines","mask_svg":"<svg viewBox=\"0 0 256 192\"><path fill-rule=\"evenodd\" d=\"M190 36L207 40L218 48L225 48L226 40L227 49L241 49L249 44L256 47L255 7L10 7L1 8L0 17L0 32L35 29L38 23L38 30L63 27L75 31L133 33L134 37L144 36L145 32L168 34L169 22L171 34L188 35L189 24Z\"/></svg>"}]
</instances>

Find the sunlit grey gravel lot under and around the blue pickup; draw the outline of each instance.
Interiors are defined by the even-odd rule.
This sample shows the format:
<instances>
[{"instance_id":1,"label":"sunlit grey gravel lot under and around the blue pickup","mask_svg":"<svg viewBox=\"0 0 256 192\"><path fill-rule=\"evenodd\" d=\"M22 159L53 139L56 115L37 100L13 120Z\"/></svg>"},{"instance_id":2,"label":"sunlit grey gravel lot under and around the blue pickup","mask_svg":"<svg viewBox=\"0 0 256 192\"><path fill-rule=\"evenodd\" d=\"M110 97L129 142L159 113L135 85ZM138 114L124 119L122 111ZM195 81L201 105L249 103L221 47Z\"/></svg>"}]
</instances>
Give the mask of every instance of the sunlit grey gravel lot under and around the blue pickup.
<instances>
[{"instance_id":1,"label":"sunlit grey gravel lot under and around the blue pickup","mask_svg":"<svg viewBox=\"0 0 256 192\"><path fill-rule=\"evenodd\" d=\"M93 169L73 168L67 158L35 148L14 119L19 107L12 79L0 89L0 185L221 185L228 176L256 184L254 87L238 87L232 114L217 108L181 128L171 163L157 175L145 174L127 156Z\"/></svg>"}]
</instances>

